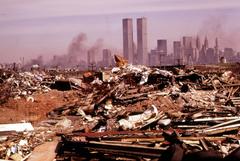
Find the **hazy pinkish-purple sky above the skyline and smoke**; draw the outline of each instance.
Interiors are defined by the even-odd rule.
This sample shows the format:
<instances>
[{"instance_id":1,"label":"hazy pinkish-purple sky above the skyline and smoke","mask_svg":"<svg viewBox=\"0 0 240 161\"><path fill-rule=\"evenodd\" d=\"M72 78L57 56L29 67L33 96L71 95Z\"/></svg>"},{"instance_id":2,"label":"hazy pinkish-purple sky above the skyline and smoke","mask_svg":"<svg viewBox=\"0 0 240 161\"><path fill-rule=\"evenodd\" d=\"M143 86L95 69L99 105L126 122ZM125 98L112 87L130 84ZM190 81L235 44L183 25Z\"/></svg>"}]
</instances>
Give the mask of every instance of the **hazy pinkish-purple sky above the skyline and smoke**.
<instances>
[{"instance_id":1,"label":"hazy pinkish-purple sky above the skyline and smoke","mask_svg":"<svg viewBox=\"0 0 240 161\"><path fill-rule=\"evenodd\" d=\"M0 63L66 54L74 37L87 35L122 51L122 19L148 20L148 50L157 39L219 37L222 48L240 51L240 0L0 0Z\"/></svg>"}]
</instances>

